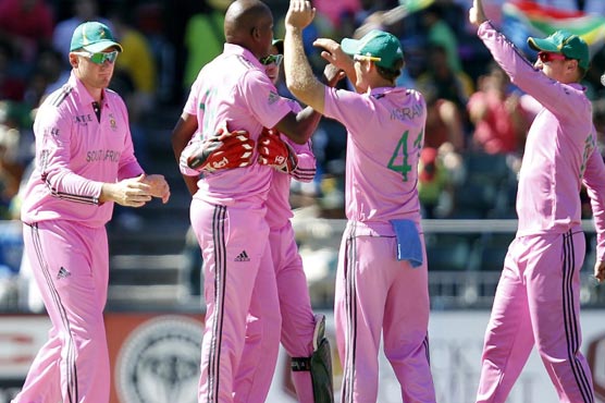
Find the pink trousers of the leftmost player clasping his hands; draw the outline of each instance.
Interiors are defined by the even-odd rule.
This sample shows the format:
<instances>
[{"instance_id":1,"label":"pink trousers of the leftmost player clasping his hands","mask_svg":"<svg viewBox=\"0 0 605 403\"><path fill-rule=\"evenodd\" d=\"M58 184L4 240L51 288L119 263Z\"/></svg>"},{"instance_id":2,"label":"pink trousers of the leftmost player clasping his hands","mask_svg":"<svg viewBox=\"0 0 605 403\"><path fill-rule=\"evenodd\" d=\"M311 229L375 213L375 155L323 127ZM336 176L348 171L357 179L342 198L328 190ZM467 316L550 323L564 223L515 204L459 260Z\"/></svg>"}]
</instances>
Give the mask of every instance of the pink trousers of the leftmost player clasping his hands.
<instances>
[{"instance_id":1,"label":"pink trousers of the leftmost player clasping his hands","mask_svg":"<svg viewBox=\"0 0 605 403\"><path fill-rule=\"evenodd\" d=\"M106 229L42 221L24 225L23 234L52 328L13 403L108 403Z\"/></svg>"}]
</instances>

